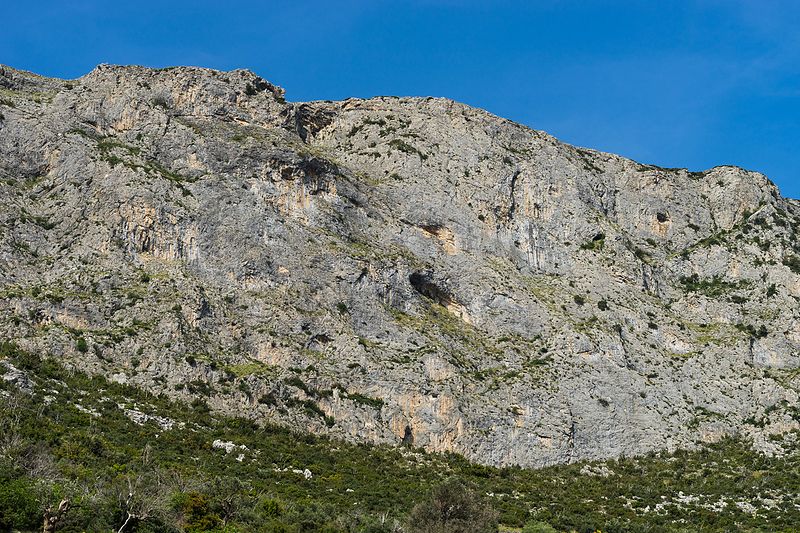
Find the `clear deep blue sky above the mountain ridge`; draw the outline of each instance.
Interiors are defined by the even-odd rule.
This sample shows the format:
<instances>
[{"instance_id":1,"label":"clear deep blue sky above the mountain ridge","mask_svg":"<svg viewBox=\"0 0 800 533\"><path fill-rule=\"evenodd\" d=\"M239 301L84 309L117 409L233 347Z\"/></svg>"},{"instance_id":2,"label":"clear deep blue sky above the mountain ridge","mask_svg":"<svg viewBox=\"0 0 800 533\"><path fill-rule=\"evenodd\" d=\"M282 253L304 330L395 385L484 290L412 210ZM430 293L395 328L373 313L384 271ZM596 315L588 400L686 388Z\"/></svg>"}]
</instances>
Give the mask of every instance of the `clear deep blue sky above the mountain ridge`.
<instances>
[{"instance_id":1,"label":"clear deep blue sky above the mountain ridge","mask_svg":"<svg viewBox=\"0 0 800 533\"><path fill-rule=\"evenodd\" d=\"M0 63L249 68L289 100L447 96L573 144L759 170L800 198L800 2L12 1Z\"/></svg>"}]
</instances>

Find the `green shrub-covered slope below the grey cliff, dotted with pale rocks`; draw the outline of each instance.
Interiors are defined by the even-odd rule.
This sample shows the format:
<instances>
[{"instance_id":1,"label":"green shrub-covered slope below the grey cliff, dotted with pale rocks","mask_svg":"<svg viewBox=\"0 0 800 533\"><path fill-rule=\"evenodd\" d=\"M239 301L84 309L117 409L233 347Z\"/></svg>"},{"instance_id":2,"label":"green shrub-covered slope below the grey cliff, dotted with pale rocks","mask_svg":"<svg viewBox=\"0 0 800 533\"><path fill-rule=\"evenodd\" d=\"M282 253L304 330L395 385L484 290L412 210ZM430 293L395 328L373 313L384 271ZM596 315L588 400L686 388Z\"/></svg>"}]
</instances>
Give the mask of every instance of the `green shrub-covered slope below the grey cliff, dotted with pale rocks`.
<instances>
[{"instance_id":1,"label":"green shrub-covered slope below the grey cliff, dotted with pale rocks","mask_svg":"<svg viewBox=\"0 0 800 533\"><path fill-rule=\"evenodd\" d=\"M796 434L773 458L728 439L499 469L216 416L8 342L0 374L0 531L41 530L62 501L69 509L52 531L420 531L434 527L421 517L459 493L466 520L474 513L490 528L495 514L523 531L800 530ZM444 487L436 498L434 487Z\"/></svg>"}]
</instances>

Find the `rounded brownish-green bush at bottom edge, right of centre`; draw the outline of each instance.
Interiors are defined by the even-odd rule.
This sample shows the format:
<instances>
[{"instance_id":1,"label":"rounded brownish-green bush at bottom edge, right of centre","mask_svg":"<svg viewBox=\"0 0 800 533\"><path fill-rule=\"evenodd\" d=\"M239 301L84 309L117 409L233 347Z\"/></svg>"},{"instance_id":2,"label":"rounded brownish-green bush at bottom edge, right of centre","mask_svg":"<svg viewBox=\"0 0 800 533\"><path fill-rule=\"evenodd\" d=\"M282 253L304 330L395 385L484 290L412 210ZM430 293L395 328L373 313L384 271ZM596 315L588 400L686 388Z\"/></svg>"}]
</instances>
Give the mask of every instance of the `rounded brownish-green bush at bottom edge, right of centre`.
<instances>
[{"instance_id":1,"label":"rounded brownish-green bush at bottom edge, right of centre","mask_svg":"<svg viewBox=\"0 0 800 533\"><path fill-rule=\"evenodd\" d=\"M414 506L408 527L410 533L491 533L497 512L470 486L450 479Z\"/></svg>"}]
</instances>

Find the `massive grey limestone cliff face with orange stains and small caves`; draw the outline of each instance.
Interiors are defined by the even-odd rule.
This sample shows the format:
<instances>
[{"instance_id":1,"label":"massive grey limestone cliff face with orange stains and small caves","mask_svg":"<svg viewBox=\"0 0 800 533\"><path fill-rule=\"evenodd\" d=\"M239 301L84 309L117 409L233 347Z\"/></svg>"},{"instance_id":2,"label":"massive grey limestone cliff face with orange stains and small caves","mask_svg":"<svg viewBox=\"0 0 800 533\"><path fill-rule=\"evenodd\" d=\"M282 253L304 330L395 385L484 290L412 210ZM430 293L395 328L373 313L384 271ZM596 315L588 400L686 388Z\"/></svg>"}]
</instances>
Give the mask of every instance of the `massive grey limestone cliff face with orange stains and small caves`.
<instances>
[{"instance_id":1,"label":"massive grey limestone cliff face with orange stains and small caves","mask_svg":"<svg viewBox=\"0 0 800 533\"><path fill-rule=\"evenodd\" d=\"M0 69L0 334L348 440L539 466L798 427L800 203L439 98Z\"/></svg>"}]
</instances>

